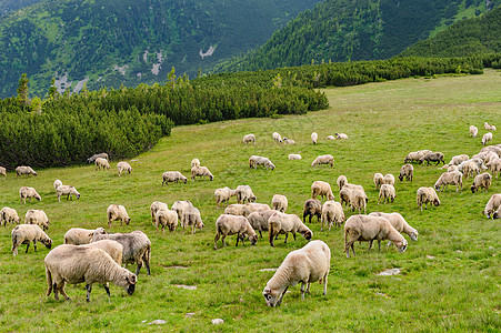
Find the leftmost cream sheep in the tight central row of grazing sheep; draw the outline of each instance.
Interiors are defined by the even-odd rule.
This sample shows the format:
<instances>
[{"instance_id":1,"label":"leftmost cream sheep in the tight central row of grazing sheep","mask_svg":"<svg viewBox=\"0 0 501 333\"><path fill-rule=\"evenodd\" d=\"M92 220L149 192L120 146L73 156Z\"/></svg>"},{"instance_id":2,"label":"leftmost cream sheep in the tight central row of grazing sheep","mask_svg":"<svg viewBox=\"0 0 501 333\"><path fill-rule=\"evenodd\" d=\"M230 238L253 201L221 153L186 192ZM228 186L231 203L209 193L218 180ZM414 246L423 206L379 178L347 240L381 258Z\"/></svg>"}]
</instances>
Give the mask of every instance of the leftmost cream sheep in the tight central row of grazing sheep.
<instances>
[{"instance_id":1,"label":"leftmost cream sheep in the tight central row of grazing sheep","mask_svg":"<svg viewBox=\"0 0 501 333\"><path fill-rule=\"evenodd\" d=\"M252 245L258 242L258 235L244 216L222 214L216 221L214 250L218 250L218 240L221 238L223 248L227 245L224 241L227 235L237 234L237 244L247 236Z\"/></svg>"}]
</instances>

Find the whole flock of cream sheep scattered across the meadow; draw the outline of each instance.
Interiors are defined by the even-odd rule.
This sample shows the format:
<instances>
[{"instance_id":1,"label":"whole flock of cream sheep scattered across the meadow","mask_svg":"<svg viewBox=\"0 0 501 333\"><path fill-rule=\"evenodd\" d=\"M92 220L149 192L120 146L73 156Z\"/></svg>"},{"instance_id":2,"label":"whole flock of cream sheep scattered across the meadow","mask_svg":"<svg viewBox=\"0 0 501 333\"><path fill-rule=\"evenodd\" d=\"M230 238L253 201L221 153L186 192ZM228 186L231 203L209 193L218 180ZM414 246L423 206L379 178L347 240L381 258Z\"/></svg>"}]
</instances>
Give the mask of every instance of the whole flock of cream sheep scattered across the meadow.
<instances>
[{"instance_id":1,"label":"whole flock of cream sheep scattered across the meadow","mask_svg":"<svg viewBox=\"0 0 501 333\"><path fill-rule=\"evenodd\" d=\"M485 129L493 131L495 127L485 123ZM472 137L477 137L478 129L470 127ZM489 132L482 138L482 144L487 144L492 140L492 133ZM272 138L278 143L293 143L293 140L281 138L279 133L273 133ZM331 138L348 139L344 133ZM489 139L490 138L490 139ZM485 139L485 140L484 140ZM318 142L318 134L312 133L311 140L313 144ZM243 138L243 143L255 144L255 137L247 134ZM299 154L289 155L290 160L301 159ZM434 186L420 188L417 191L417 204L420 210L424 204L439 206L440 200L437 191L447 190L448 185L455 185L457 192L462 190L463 178L474 176L471 185L471 191L475 192L479 189L489 190L492 182L492 175L498 179L501 172L501 144L488 145L469 158L467 154L453 157L449 163L445 164L444 155L441 152L432 152L422 150L410 152L401 167L399 180L412 181L414 175L414 167L412 163L427 164L435 162L437 165L442 163L447 171L440 175ZM88 159L88 163L94 163L96 169L110 169L108 155L106 153L97 154ZM330 154L319 155L311 163L311 167L327 164L333 167L334 159ZM252 155L249 159L249 167L257 169L262 165L265 169L274 170L274 164L268 158ZM123 172L131 172L132 168L128 162L119 162L119 176ZM481 173L489 169L492 175L488 172ZM37 175L37 172L30 167L18 167L16 169L17 175ZM7 175L4 168L0 169L0 173ZM191 161L191 179L197 176L209 178L213 180L212 173L208 168L201 167L198 159ZM170 182L177 183L179 181L187 182L187 178L178 171L169 171L162 174L162 186ZM393 174L375 173L373 183L378 189L379 198L378 204L393 202L395 199L395 178ZM265 203L258 203L257 196L249 185L239 185L232 190L230 188L217 189L214 191L216 209L221 205L224 206L224 212L216 221L216 236L214 250L218 249L218 241L221 239L222 245L226 246L226 238L228 235L237 235L237 245L242 244L247 239L251 244L255 244L259 238L262 238L262 232L268 231L268 241L271 246L274 246L274 241L280 234L284 234L284 242L291 233L295 240L295 234L301 234L305 240L310 241L313 238L313 232L308 228L307 218L311 223L311 219L317 216L323 226L329 226L329 230L335 225L341 226L344 223L344 252L347 258L350 256L350 250L355 254L353 244L359 242L369 242L369 249L373 241L378 241L380 248L381 241L388 240L388 246L394 244L400 252L404 252L408 248L408 241L402 236L402 233L408 234L413 241L418 240L418 231L409 225L400 213L381 213L372 212L367 215L367 203L369 201L363 186L351 184L348 182L345 175L340 175L337 180L339 188L339 202L334 201L334 194L331 185L328 182L314 181L311 185L311 199L304 202L302 220L295 214L285 213L288 209L288 199L282 194L274 194L271 200L271 206ZM54 181L54 190L60 201L61 196L72 199L74 195L80 198L80 193L74 186L63 185L61 181ZM435 191L437 190L437 191ZM22 186L19 190L20 200L26 204L26 199L31 201L32 198L41 200L40 195L33 188ZM237 203L229 204L231 198L236 196ZM323 203L317 199L323 200ZM351 211L357 211L358 214L351 215L348 220L344 216L344 208L350 206ZM362 214L363 210L363 214ZM150 214L152 223L159 231L159 228L169 231L174 231L178 224L182 229L191 226L191 233L196 229L204 226L200 211L188 200L176 201L172 208L169 209L167 203L154 201L150 206ZM501 218L501 194L493 194L485 205L484 214L488 218ZM108 226L112 225L113 221L120 221L129 224L130 218L123 205L111 204L107 209ZM21 244L27 244L26 252L33 243L37 250L37 242L42 243L48 249L52 246L52 240L46 233L49 229L50 221L42 210L29 210L24 218L26 224L19 224L20 219L16 210L11 208L3 208L0 211L0 224L7 223L18 224L12 230L12 253L18 254L18 248ZM257 234L259 232L259 236ZM59 294L66 299L69 296L64 292L66 283L86 283L87 301L90 300L90 293L93 283L102 283L108 294L108 282L122 286L129 294L134 291L138 281L137 275L142 265L146 265L147 273L150 274L150 259L151 259L151 242L147 234L142 231L133 231L130 233L114 233L109 234L102 228L96 230L86 230L80 228L70 229L64 234L64 244L51 250L44 259L46 276L48 283L47 295L54 293L56 300ZM301 283L301 294L309 292L310 283L321 281L323 283L323 293L327 293L327 279L330 269L331 252L329 246L322 241L310 241L304 248L290 252L272 279L267 283L263 291L267 305L279 305L289 286ZM122 268L122 264L137 264L136 274Z\"/></svg>"}]
</instances>

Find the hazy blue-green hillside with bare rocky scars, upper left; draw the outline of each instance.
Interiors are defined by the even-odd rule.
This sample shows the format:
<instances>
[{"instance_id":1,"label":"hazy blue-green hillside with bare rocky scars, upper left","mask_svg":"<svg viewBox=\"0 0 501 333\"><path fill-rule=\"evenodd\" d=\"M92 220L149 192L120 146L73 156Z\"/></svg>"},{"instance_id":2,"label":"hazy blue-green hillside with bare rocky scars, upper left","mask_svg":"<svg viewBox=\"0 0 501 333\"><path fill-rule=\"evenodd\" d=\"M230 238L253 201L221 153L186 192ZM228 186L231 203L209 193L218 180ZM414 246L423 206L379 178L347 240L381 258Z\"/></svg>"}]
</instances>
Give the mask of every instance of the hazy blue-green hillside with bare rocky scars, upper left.
<instances>
[{"instance_id":1,"label":"hazy blue-green hillside with bare rocky scars, upper left","mask_svg":"<svg viewBox=\"0 0 501 333\"><path fill-rule=\"evenodd\" d=\"M46 0L0 18L0 97L192 78L262 44L318 0Z\"/></svg>"}]
</instances>

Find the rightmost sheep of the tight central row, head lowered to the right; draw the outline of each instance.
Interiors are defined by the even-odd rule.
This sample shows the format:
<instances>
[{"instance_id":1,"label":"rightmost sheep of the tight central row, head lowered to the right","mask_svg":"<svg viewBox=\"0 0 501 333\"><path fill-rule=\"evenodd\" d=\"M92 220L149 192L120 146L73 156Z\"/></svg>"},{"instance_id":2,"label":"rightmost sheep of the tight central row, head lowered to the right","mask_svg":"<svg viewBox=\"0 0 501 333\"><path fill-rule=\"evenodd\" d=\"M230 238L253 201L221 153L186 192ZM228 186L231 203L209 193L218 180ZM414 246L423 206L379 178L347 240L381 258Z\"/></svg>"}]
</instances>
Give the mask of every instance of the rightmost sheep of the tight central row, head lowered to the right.
<instances>
[{"instance_id":1,"label":"rightmost sheep of the tight central row, head lowered to the right","mask_svg":"<svg viewBox=\"0 0 501 333\"><path fill-rule=\"evenodd\" d=\"M299 232L307 241L311 240L313 232L301 222L298 215L274 212L268 219L269 241L274 246L273 240L279 234L285 234L285 243L289 232L292 233L295 241L295 233Z\"/></svg>"}]
</instances>

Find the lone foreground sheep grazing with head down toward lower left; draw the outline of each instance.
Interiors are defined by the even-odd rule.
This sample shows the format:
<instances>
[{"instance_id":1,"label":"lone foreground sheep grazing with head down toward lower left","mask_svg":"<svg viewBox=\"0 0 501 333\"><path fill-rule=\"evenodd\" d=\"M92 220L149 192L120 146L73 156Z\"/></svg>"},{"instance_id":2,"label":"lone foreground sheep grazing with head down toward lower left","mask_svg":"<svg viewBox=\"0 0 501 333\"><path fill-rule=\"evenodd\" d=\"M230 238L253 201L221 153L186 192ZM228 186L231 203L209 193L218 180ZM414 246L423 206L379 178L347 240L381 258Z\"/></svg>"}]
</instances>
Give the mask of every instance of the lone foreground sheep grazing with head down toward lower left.
<instances>
[{"instance_id":1,"label":"lone foreground sheep grazing with head down toward lower left","mask_svg":"<svg viewBox=\"0 0 501 333\"><path fill-rule=\"evenodd\" d=\"M289 286L301 282L301 299L310 293L311 282L323 283L327 295L327 280L331 263L331 251L322 241L312 241L302 249L290 252L262 292L268 306L278 306ZM305 286L305 289L304 289Z\"/></svg>"}]
</instances>

